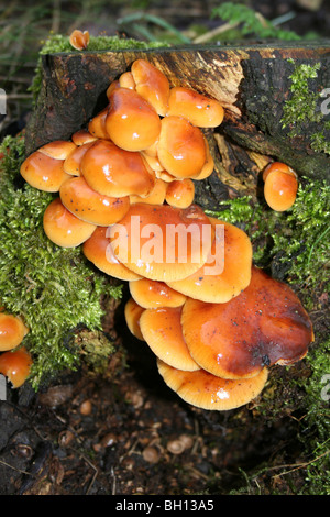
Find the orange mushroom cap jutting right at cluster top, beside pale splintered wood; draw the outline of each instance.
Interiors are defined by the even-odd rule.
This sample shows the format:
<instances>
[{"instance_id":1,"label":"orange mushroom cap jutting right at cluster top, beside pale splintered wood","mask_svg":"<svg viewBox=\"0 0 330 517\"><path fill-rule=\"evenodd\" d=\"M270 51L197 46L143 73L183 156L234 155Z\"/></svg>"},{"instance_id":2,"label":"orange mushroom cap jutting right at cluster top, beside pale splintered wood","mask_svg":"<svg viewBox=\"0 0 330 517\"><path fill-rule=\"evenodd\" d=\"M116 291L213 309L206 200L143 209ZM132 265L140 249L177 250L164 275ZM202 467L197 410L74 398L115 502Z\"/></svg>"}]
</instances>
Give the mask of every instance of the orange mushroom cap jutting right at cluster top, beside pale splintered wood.
<instances>
[{"instance_id":1,"label":"orange mushroom cap jutting right at cluster top, beside pale splintered wood","mask_svg":"<svg viewBox=\"0 0 330 517\"><path fill-rule=\"evenodd\" d=\"M224 110L218 100L191 88L176 86L169 91L167 116L185 117L199 128L217 128L223 120Z\"/></svg>"}]
</instances>

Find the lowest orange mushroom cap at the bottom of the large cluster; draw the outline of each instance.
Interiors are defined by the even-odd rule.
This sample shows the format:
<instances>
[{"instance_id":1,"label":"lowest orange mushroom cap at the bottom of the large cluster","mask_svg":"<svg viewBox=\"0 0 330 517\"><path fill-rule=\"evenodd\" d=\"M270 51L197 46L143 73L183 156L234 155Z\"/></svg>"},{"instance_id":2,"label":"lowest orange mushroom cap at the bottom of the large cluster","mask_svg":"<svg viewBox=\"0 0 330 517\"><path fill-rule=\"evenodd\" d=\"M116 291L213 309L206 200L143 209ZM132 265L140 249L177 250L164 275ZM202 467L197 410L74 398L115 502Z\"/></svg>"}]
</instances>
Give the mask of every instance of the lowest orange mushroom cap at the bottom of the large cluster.
<instances>
[{"instance_id":1,"label":"lowest orange mushroom cap at the bottom of the large cluster","mask_svg":"<svg viewBox=\"0 0 330 517\"><path fill-rule=\"evenodd\" d=\"M184 372L158 360L158 372L165 384L193 406L224 411L244 406L264 388L268 372L263 369L253 378L224 380L205 370Z\"/></svg>"}]
</instances>

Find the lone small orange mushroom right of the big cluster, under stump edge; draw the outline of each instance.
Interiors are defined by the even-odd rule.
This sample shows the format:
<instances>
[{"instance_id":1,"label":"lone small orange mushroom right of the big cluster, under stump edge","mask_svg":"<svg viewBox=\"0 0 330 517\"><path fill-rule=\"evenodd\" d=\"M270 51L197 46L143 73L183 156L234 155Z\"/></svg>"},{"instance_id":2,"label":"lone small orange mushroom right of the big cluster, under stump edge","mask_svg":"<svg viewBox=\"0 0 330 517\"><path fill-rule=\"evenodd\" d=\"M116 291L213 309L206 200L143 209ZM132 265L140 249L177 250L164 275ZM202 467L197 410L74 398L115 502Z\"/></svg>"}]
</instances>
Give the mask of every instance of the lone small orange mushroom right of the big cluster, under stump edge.
<instances>
[{"instance_id":1,"label":"lone small orange mushroom right of the big cluster, under stump edge","mask_svg":"<svg viewBox=\"0 0 330 517\"><path fill-rule=\"evenodd\" d=\"M284 163L273 162L265 168L263 179L267 205L278 212L292 208L298 190L295 170Z\"/></svg>"}]
</instances>

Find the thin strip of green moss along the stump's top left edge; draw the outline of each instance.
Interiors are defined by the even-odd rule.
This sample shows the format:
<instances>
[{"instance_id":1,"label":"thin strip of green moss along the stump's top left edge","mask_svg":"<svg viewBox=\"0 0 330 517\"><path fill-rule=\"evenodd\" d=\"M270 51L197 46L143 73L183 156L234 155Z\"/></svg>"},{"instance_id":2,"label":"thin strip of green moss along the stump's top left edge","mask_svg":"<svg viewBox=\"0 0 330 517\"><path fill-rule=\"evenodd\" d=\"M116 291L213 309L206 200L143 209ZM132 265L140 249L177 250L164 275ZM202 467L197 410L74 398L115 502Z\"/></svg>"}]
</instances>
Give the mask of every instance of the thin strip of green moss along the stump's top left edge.
<instances>
[{"instance_id":1,"label":"thin strip of green moss along the stump's top left edge","mask_svg":"<svg viewBox=\"0 0 330 517\"><path fill-rule=\"evenodd\" d=\"M30 87L30 91L33 94L34 101L36 100L41 84L42 84L42 65L41 56L45 54L54 54L58 52L70 52L79 53L81 51L75 50L70 43L69 37L62 34L52 34L47 40L42 42L42 48L40 51L40 57L35 70L35 75ZM136 48L145 51L147 48L160 48L164 46L169 46L164 42L144 42L139 40L133 40L131 37L119 37L119 36L90 36L88 50L84 52L95 52L95 51L124 51L129 48Z\"/></svg>"}]
</instances>

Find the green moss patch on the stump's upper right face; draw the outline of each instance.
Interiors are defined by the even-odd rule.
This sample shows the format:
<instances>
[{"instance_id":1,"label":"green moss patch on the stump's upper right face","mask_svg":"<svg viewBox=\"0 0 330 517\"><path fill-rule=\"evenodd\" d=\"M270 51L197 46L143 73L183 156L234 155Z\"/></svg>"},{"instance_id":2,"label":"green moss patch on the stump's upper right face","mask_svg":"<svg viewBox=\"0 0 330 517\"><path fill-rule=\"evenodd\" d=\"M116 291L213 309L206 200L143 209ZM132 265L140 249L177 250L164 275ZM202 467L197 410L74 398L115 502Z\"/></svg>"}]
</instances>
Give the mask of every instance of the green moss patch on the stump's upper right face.
<instances>
[{"instance_id":1,"label":"green moss patch on the stump's upper right face","mask_svg":"<svg viewBox=\"0 0 330 517\"><path fill-rule=\"evenodd\" d=\"M294 59L288 61L295 64ZM321 124L323 122L321 130L311 135L310 146L316 152L330 154L329 121L326 121L323 113L318 111L318 106L321 103L321 92L315 91L311 86L311 80L318 77L320 67L320 63L301 64L295 67L290 75L292 96L284 105L282 124L283 128L289 127L289 136L295 138L304 132L306 124Z\"/></svg>"}]
</instances>

